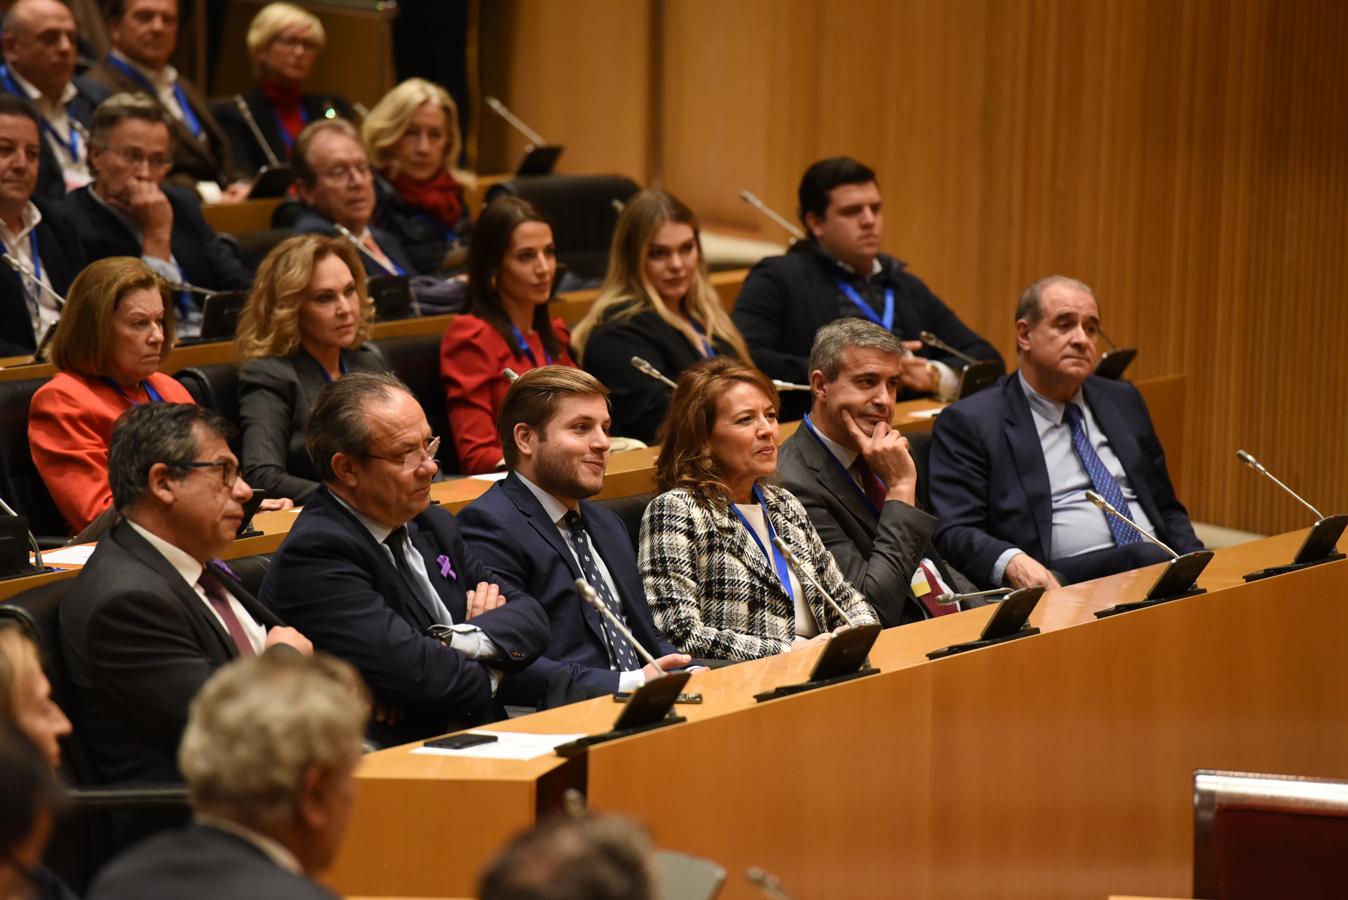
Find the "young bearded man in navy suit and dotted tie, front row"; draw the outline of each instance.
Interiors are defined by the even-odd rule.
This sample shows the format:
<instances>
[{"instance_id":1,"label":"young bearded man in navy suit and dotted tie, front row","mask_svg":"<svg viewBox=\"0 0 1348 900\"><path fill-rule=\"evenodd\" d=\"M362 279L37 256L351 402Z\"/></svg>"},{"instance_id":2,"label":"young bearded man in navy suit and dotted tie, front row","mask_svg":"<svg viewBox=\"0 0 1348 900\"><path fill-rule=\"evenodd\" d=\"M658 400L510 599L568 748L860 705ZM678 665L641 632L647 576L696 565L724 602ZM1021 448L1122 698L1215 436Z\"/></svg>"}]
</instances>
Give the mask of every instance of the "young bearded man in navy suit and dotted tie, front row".
<instances>
[{"instance_id":1,"label":"young bearded man in navy suit and dotted tie, front row","mask_svg":"<svg viewBox=\"0 0 1348 900\"><path fill-rule=\"evenodd\" d=\"M608 465L608 389L580 369L526 372L506 393L501 449L510 474L458 513L464 536L492 571L543 605L551 637L543 656L503 686L507 702L546 705L565 683L599 697L632 691L658 672L576 590L585 578L624 620L661 671L687 666L646 605L636 552L623 521L588 503Z\"/></svg>"}]
</instances>

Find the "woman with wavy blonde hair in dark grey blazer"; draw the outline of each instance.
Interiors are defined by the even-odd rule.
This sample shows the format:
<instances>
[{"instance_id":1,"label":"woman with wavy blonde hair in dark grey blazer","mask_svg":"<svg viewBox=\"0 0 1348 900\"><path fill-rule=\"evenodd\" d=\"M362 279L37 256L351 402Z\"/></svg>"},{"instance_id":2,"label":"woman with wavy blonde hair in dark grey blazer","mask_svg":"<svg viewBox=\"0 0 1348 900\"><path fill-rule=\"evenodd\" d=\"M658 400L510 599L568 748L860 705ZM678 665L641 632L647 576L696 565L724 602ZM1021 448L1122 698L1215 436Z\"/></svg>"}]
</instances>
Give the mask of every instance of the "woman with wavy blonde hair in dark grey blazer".
<instances>
[{"instance_id":1,"label":"woman with wavy blonde hair in dark grey blazer","mask_svg":"<svg viewBox=\"0 0 1348 900\"><path fill-rule=\"evenodd\" d=\"M239 317L243 474L253 488L295 503L318 489L305 423L325 384L387 369L363 346L373 321L365 268L346 241L299 234L263 260Z\"/></svg>"}]
</instances>

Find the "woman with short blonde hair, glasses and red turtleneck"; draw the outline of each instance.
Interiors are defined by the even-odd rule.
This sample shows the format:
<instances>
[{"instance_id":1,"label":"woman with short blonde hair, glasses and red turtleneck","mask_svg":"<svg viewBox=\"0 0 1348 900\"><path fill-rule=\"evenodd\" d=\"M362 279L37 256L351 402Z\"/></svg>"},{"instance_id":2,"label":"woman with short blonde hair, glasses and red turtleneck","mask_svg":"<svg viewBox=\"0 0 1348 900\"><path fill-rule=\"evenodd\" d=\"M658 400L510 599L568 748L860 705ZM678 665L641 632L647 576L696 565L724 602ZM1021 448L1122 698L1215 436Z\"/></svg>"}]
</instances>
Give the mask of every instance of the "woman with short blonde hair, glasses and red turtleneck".
<instances>
[{"instance_id":1,"label":"woman with short blonde hair, glasses and red turtleneck","mask_svg":"<svg viewBox=\"0 0 1348 900\"><path fill-rule=\"evenodd\" d=\"M324 23L314 13L293 3L268 3L252 18L247 42L257 86L243 100L267 146L257 141L235 100L214 104L214 113L229 136L235 164L256 174L271 164L272 156L286 164L295 137L310 121L350 119L355 113L342 97L305 93L305 81L328 42Z\"/></svg>"}]
</instances>

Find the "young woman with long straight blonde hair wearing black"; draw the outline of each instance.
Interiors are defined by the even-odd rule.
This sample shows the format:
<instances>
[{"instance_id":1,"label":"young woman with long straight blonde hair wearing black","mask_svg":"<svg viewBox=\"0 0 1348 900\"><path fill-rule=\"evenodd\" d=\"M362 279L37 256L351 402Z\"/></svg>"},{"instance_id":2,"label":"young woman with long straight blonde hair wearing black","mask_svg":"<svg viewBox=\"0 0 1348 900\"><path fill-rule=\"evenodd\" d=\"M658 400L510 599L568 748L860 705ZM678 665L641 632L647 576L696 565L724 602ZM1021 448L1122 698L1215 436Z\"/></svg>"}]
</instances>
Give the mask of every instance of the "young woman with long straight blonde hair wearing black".
<instances>
[{"instance_id":1,"label":"young woman with long straight blonde hair wearing black","mask_svg":"<svg viewBox=\"0 0 1348 900\"><path fill-rule=\"evenodd\" d=\"M712 287L693 210L646 190L619 216L599 299L576 326L581 365L613 392L613 432L650 443L669 388L632 368L639 356L669 379L698 360L749 352Z\"/></svg>"}]
</instances>

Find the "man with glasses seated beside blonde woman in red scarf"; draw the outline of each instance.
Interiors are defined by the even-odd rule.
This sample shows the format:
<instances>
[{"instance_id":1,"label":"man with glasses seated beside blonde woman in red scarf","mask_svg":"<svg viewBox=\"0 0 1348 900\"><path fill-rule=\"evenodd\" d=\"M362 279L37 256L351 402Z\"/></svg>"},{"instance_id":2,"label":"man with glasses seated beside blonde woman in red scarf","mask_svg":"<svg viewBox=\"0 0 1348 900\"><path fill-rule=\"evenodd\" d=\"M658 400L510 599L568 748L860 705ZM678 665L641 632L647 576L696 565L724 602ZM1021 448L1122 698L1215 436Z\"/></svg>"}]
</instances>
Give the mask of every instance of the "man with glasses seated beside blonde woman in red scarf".
<instances>
[{"instance_id":1,"label":"man with glasses seated beside blonde woman in red scarf","mask_svg":"<svg viewBox=\"0 0 1348 900\"><path fill-rule=\"evenodd\" d=\"M365 275L415 275L402 243L372 225L375 175L356 127L345 119L324 119L295 139L291 159L303 209L294 220L298 234L341 236L360 248ZM278 210L279 212L279 210Z\"/></svg>"}]
</instances>

